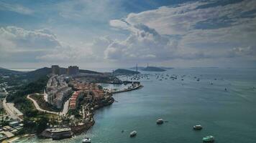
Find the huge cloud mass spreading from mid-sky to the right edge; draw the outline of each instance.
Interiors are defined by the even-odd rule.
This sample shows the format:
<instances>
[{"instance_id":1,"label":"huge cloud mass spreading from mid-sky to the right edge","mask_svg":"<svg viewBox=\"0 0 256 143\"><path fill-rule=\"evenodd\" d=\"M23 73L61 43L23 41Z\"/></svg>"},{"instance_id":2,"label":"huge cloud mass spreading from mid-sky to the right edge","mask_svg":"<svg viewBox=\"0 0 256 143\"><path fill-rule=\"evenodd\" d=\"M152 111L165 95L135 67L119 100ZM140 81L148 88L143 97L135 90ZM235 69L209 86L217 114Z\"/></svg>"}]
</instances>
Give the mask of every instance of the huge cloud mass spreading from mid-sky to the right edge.
<instances>
[{"instance_id":1,"label":"huge cloud mass spreading from mid-sky to the right edge","mask_svg":"<svg viewBox=\"0 0 256 143\"><path fill-rule=\"evenodd\" d=\"M162 6L109 21L111 26L127 30L130 35L109 45L106 58L214 60L238 56L230 52L234 46L255 47L256 1L209 6L214 3L196 1Z\"/></svg>"}]
</instances>

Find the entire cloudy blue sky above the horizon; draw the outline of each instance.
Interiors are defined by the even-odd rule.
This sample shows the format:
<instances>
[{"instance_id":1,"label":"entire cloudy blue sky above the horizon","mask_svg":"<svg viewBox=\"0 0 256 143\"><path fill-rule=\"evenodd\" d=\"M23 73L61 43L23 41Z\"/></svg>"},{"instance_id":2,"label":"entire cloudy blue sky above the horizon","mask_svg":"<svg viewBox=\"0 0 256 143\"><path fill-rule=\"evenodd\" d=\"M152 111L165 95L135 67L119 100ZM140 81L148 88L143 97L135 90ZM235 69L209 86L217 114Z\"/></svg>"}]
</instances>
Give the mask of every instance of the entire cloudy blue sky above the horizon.
<instances>
[{"instance_id":1,"label":"entire cloudy blue sky above the horizon","mask_svg":"<svg viewBox=\"0 0 256 143\"><path fill-rule=\"evenodd\" d=\"M0 0L0 66L256 67L255 0Z\"/></svg>"}]
</instances>

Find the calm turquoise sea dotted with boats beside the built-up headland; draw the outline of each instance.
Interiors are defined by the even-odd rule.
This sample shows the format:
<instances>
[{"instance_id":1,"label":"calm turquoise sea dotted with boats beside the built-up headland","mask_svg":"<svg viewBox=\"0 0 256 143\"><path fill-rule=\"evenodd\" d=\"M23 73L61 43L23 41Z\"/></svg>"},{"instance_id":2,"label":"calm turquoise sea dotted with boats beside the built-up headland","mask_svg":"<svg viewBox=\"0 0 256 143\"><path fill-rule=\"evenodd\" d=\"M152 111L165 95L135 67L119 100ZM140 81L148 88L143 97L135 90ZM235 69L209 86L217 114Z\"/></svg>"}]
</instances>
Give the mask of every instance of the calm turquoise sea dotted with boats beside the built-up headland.
<instances>
[{"instance_id":1,"label":"calm turquoise sea dotted with boats beside the built-up headland","mask_svg":"<svg viewBox=\"0 0 256 143\"><path fill-rule=\"evenodd\" d=\"M142 89L115 94L118 102L96 111L96 124L86 134L54 142L81 142L87 136L93 143L198 143L207 135L213 135L217 143L256 142L256 69L171 69L162 73L177 74L178 79L159 81L155 75L142 79ZM159 126L159 118L168 122ZM195 124L204 129L193 131ZM130 138L133 130L137 137Z\"/></svg>"}]
</instances>

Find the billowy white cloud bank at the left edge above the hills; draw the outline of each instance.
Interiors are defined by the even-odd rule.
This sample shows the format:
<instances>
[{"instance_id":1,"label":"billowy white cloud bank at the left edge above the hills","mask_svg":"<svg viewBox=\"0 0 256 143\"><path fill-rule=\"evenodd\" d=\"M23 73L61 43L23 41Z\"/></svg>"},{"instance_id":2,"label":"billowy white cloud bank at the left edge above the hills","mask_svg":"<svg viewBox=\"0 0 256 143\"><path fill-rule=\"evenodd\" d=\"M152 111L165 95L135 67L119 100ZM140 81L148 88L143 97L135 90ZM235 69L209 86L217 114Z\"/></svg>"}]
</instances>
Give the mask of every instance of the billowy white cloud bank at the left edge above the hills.
<instances>
[{"instance_id":1,"label":"billowy white cloud bank at the left edge above the hills","mask_svg":"<svg viewBox=\"0 0 256 143\"><path fill-rule=\"evenodd\" d=\"M26 30L17 26L0 28L1 61L38 61L53 54L58 59L68 46L59 41L49 29ZM58 51L58 52L57 52ZM66 55L63 54L63 57ZM53 59L53 58L52 58ZM47 59L48 60L48 59Z\"/></svg>"}]
</instances>

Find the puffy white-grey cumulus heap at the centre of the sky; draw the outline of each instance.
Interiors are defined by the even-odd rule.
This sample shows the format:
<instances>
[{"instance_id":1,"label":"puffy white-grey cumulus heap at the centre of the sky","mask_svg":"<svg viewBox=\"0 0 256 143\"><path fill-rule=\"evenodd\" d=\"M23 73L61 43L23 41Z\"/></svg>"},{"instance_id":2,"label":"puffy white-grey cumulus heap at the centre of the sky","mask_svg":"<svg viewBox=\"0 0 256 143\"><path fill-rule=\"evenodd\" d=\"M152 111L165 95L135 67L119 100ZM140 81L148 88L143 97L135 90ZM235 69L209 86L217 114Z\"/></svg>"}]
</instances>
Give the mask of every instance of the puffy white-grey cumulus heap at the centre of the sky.
<instances>
[{"instance_id":1,"label":"puffy white-grey cumulus heap at the centre of the sky","mask_svg":"<svg viewBox=\"0 0 256 143\"><path fill-rule=\"evenodd\" d=\"M114 41L105 51L106 59L147 59L163 60L170 59L176 52L175 41L170 41L167 36L157 33L143 24L122 25L131 31L124 41Z\"/></svg>"}]
</instances>

